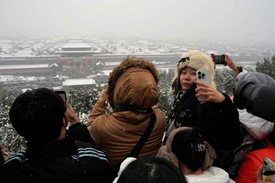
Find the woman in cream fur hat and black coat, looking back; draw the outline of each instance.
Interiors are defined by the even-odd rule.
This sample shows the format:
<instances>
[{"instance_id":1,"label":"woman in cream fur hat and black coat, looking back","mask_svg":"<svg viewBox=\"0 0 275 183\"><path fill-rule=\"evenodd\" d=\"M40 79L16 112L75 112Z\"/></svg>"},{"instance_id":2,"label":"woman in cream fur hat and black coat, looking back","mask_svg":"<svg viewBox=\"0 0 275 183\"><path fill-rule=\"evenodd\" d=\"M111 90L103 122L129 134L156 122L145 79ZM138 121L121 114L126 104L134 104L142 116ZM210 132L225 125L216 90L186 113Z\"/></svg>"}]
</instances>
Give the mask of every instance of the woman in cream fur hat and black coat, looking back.
<instances>
[{"instance_id":1,"label":"woman in cream fur hat and black coat, looking back","mask_svg":"<svg viewBox=\"0 0 275 183\"><path fill-rule=\"evenodd\" d=\"M214 66L211 57L201 51L188 51L182 55L170 87L174 104L168 117L164 144L170 132L182 126L199 128L203 139L216 151L230 150L241 144L238 111L228 95L216 90ZM195 81L197 70L211 72L211 86ZM196 88L196 84L201 87ZM199 90L203 92L197 93ZM200 102L198 96L207 98Z\"/></svg>"}]
</instances>

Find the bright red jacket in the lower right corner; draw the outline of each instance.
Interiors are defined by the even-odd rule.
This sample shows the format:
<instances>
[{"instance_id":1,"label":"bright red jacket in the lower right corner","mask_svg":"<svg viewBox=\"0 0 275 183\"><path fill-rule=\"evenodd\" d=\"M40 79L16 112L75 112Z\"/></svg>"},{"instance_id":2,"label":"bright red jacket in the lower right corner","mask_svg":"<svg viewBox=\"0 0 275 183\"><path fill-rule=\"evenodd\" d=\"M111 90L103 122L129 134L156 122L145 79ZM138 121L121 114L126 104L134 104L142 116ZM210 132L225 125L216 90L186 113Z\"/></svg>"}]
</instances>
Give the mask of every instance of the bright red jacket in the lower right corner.
<instances>
[{"instance_id":1,"label":"bright red jacket in the lower right corner","mask_svg":"<svg viewBox=\"0 0 275 183\"><path fill-rule=\"evenodd\" d=\"M236 183L255 183L257 182L257 170L263 164L265 157L275 162L275 146L268 141L267 148L252 151L244 157L238 177L235 178Z\"/></svg>"}]
</instances>

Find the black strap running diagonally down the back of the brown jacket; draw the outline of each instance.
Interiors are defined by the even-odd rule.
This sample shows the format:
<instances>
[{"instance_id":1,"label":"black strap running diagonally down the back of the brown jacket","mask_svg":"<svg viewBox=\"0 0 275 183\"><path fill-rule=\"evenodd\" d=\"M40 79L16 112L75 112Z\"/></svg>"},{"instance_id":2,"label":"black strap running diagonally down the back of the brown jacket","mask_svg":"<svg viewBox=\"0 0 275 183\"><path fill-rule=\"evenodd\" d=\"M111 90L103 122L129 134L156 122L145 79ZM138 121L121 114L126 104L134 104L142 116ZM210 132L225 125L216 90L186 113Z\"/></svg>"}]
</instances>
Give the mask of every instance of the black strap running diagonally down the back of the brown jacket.
<instances>
[{"instance_id":1,"label":"black strap running diagonally down the back of the brown jacket","mask_svg":"<svg viewBox=\"0 0 275 183\"><path fill-rule=\"evenodd\" d=\"M141 136L141 138L138 140L136 146L133 148L132 152L129 153L125 158L128 157L137 157L138 153L140 152L141 148L143 147L143 145L145 144L145 142L147 141L147 139L149 138L151 132L153 131L154 125L155 125L155 119L156 116L154 114L152 114L150 116L150 122L148 124L148 127L146 128L145 132L143 133L143 135Z\"/></svg>"}]
</instances>

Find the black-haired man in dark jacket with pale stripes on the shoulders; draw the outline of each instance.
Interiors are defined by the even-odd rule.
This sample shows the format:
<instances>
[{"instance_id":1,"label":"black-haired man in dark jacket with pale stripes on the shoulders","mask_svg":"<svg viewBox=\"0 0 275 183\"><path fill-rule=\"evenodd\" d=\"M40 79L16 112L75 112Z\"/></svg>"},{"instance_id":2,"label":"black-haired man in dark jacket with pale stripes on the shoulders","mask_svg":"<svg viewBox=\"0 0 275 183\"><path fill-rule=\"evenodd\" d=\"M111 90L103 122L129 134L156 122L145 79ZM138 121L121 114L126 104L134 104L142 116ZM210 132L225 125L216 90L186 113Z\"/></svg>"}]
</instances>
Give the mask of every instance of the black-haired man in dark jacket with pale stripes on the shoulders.
<instances>
[{"instance_id":1,"label":"black-haired man in dark jacket with pale stripes on the shoulders","mask_svg":"<svg viewBox=\"0 0 275 183\"><path fill-rule=\"evenodd\" d=\"M91 181L108 169L105 154L91 142L69 101L47 88L19 95L9 112L10 122L27 140L27 149L5 161L2 172L12 178ZM66 137L66 127L70 121ZM73 138L74 137L74 138ZM79 141L82 140L82 141Z\"/></svg>"}]
</instances>

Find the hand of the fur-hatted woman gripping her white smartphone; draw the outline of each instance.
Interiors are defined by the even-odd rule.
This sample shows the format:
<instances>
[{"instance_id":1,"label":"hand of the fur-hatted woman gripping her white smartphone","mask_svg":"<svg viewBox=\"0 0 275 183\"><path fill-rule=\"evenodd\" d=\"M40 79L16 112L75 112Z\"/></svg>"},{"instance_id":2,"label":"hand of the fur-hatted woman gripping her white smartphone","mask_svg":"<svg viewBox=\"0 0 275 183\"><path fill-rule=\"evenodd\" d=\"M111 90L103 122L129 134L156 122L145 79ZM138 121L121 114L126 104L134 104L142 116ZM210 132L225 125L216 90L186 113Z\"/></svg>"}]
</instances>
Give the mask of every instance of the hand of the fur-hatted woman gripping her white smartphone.
<instances>
[{"instance_id":1,"label":"hand of the fur-hatted woman gripping her white smartphone","mask_svg":"<svg viewBox=\"0 0 275 183\"><path fill-rule=\"evenodd\" d=\"M201 101L201 104L204 104L206 102L214 102L214 103L221 103L222 101L224 101L225 96L223 94L221 94L220 92L218 92L217 90L215 90L213 87L208 86L205 83L199 82L199 81L194 81L194 83L199 84L200 87L195 89L196 97L199 96L207 96L206 99L204 99L203 101ZM202 90L202 93L198 93L198 91Z\"/></svg>"}]
</instances>

